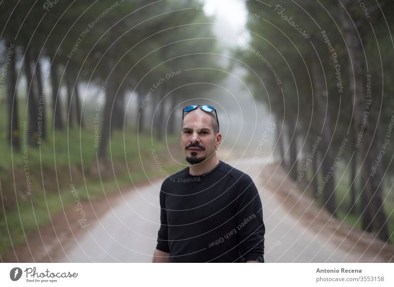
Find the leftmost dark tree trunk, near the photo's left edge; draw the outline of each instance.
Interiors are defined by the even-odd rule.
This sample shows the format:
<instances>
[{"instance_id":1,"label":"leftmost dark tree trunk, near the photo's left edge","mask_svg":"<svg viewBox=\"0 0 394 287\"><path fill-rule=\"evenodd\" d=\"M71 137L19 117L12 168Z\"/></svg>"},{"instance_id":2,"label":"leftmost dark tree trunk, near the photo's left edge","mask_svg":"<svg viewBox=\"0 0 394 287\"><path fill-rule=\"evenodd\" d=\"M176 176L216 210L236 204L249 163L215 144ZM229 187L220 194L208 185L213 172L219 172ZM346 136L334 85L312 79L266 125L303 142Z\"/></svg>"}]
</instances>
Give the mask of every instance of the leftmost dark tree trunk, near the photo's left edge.
<instances>
[{"instance_id":1,"label":"leftmost dark tree trunk, near the photo's left edge","mask_svg":"<svg viewBox=\"0 0 394 287\"><path fill-rule=\"evenodd\" d=\"M12 147L20 151L20 130L18 123L18 98L16 96L16 57L15 45L7 43L7 56L9 59L7 69L7 94L8 94L8 141Z\"/></svg>"}]
</instances>

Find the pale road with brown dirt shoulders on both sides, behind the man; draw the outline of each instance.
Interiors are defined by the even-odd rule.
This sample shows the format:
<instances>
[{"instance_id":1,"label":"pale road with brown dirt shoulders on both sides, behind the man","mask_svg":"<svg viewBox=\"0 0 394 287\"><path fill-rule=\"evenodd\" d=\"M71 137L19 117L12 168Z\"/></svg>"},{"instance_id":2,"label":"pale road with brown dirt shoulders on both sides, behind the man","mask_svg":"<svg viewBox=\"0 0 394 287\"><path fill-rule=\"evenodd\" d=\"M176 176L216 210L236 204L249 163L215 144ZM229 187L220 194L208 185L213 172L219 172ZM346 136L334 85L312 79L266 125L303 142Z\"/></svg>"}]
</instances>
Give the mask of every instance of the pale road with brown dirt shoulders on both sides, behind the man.
<instances>
[{"instance_id":1,"label":"pale road with brown dirt shoulders on both sides, behind the man","mask_svg":"<svg viewBox=\"0 0 394 287\"><path fill-rule=\"evenodd\" d=\"M293 190L284 170L262 158L225 160L255 181L263 202L266 262L393 262L393 245L355 230ZM70 208L15 247L6 262L151 262L162 180L85 203L89 226Z\"/></svg>"}]
</instances>

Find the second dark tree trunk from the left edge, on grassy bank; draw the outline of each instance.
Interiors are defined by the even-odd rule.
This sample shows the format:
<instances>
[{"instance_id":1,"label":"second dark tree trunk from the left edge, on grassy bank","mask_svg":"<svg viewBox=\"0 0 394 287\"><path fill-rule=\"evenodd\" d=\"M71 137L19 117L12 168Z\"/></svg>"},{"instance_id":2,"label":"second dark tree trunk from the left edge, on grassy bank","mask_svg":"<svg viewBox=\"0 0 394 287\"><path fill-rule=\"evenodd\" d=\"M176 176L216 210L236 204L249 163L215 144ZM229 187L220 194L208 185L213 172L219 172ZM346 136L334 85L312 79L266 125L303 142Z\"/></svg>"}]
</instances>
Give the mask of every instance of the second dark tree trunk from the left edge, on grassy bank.
<instances>
[{"instance_id":1,"label":"second dark tree trunk from the left edge, on grassy bank","mask_svg":"<svg viewBox=\"0 0 394 287\"><path fill-rule=\"evenodd\" d=\"M30 49L25 50L25 75L26 87L28 95L28 108L29 108L29 142L32 145L37 144L38 139L38 109L37 100L33 89L33 74L31 70L31 57Z\"/></svg>"}]
</instances>

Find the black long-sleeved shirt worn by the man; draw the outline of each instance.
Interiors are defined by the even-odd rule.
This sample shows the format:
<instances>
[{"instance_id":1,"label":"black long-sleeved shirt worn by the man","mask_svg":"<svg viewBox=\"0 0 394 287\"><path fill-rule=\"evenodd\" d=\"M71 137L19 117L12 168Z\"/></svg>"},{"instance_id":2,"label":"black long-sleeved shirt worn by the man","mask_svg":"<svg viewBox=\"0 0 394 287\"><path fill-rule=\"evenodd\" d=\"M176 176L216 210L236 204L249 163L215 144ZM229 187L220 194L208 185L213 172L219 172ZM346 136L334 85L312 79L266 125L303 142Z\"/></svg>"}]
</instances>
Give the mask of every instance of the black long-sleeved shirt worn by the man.
<instances>
[{"instance_id":1,"label":"black long-sleeved shirt worn by the man","mask_svg":"<svg viewBox=\"0 0 394 287\"><path fill-rule=\"evenodd\" d=\"M252 179L220 161L210 172L189 167L164 180L157 249L170 262L264 262L263 210Z\"/></svg>"}]
</instances>

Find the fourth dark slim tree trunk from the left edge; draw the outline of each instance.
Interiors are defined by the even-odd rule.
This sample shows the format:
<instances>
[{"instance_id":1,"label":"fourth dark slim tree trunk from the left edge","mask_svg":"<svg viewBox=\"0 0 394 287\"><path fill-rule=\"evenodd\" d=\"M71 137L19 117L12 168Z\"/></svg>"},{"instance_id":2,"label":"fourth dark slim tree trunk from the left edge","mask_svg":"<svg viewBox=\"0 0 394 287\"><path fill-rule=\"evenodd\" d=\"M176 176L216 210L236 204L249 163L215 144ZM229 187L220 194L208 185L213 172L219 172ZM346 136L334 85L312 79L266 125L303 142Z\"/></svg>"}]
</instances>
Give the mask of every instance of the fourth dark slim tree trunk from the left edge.
<instances>
[{"instance_id":1,"label":"fourth dark slim tree trunk from the left edge","mask_svg":"<svg viewBox=\"0 0 394 287\"><path fill-rule=\"evenodd\" d=\"M62 101L59 96L60 83L58 74L58 64L54 56L52 58L51 69L51 84L52 84L52 112L53 112L53 125L56 129L63 129L63 119L62 119Z\"/></svg>"}]
</instances>

